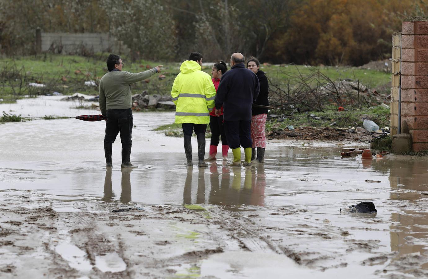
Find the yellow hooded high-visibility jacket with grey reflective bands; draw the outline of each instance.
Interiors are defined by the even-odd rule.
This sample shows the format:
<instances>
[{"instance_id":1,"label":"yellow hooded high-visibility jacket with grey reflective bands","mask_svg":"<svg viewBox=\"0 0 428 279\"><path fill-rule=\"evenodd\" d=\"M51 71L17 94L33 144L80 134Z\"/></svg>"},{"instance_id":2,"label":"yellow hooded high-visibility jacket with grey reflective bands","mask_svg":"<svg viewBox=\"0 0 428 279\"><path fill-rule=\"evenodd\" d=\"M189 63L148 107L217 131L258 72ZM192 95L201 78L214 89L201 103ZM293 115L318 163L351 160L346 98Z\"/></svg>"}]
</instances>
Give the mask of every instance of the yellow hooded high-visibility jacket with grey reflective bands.
<instances>
[{"instance_id":1,"label":"yellow hooded high-visibility jacket with grey reflective bands","mask_svg":"<svg viewBox=\"0 0 428 279\"><path fill-rule=\"evenodd\" d=\"M201 71L198 62L184 61L171 90L172 101L177 106L175 123L208 124L215 95L211 76Z\"/></svg>"}]
</instances>

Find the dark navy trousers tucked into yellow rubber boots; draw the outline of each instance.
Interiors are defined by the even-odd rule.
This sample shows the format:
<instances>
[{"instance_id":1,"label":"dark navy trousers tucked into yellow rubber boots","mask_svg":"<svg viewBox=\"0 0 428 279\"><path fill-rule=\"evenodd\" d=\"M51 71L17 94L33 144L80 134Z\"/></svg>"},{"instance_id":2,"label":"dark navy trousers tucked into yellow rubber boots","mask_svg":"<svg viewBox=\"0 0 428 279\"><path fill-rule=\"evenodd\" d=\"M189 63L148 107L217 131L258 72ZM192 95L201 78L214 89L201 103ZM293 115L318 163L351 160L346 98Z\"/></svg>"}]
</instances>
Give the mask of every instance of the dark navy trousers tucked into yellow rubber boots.
<instances>
[{"instance_id":1,"label":"dark navy trousers tucked into yellow rubber boots","mask_svg":"<svg viewBox=\"0 0 428 279\"><path fill-rule=\"evenodd\" d=\"M239 146L248 148L253 145L251 141L251 120L225 121L224 131L229 147L232 149Z\"/></svg>"}]
</instances>

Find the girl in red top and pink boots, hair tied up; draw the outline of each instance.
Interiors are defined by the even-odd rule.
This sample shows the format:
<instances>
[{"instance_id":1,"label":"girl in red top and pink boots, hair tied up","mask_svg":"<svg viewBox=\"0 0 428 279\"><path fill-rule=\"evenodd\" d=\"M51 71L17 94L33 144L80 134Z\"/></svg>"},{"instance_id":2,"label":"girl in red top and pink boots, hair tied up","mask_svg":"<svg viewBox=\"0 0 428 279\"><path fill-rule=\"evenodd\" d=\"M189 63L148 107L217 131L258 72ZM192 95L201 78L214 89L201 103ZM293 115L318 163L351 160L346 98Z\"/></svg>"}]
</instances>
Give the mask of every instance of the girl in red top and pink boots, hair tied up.
<instances>
[{"instance_id":1,"label":"girl in red top and pink boots, hair tied up","mask_svg":"<svg viewBox=\"0 0 428 279\"><path fill-rule=\"evenodd\" d=\"M218 85L220 84L221 76L226 73L227 66L226 63L222 60L220 63L215 63L211 75L214 83L215 90L217 91ZM217 145L220 141L221 135L221 146L223 153L223 160L227 160L227 152L229 151L229 145L227 145L226 134L224 133L223 126L223 107L221 107L220 116L216 116L214 109L210 113L210 128L211 128L211 145L210 145L210 154L207 159L208 161L216 160L215 155L217 154Z\"/></svg>"}]
</instances>

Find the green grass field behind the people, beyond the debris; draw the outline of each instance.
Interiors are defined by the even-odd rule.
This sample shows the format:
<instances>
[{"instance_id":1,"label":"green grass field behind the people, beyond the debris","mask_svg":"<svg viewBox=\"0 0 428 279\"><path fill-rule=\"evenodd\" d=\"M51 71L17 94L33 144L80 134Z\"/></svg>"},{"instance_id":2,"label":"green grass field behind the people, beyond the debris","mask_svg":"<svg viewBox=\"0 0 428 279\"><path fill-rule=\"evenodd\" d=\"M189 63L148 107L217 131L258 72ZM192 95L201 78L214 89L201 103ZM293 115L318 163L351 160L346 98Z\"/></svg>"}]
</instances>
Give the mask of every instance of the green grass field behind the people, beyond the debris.
<instances>
[{"instance_id":1,"label":"green grass field behind the people, beyond the debris","mask_svg":"<svg viewBox=\"0 0 428 279\"><path fill-rule=\"evenodd\" d=\"M99 79L107 73L105 60L107 53L94 57L46 54L38 56L24 56L0 59L0 99L5 102L14 102L26 95L52 94L54 91L64 95L79 92L86 95L98 95L98 86L84 86L85 81ZM180 72L178 62L148 62L139 60L131 62L123 58L125 63L123 70L130 72L146 71L146 66L153 68L163 65L162 73L165 79L159 80L158 75L150 77L149 82L139 82L132 85L133 94L147 90L149 94L169 95L172 83ZM352 79L360 80L362 84L370 89L384 86L391 80L391 74L363 70L352 67L308 67L304 65L268 65L261 66L273 83L284 85L288 81L292 84L295 79L288 79L289 75L297 76L299 72L303 75L310 74L314 69L320 70L330 79ZM211 74L210 66L202 66L202 71ZM34 88L28 83L43 83L44 88Z\"/></svg>"}]
</instances>

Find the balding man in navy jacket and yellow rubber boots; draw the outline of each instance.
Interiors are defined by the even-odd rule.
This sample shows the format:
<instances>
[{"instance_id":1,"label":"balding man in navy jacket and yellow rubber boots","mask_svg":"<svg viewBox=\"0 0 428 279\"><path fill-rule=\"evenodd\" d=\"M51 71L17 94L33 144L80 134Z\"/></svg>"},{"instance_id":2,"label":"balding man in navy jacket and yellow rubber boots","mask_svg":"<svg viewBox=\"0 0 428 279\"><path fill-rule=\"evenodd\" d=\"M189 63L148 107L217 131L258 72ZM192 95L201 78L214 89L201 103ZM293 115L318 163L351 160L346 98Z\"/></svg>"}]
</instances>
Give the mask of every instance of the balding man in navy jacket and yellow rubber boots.
<instances>
[{"instance_id":1,"label":"balding man in navy jacket and yellow rubber boots","mask_svg":"<svg viewBox=\"0 0 428 279\"><path fill-rule=\"evenodd\" d=\"M241 148L244 148L244 166L251 165L251 107L259 95L259 79L245 68L245 57L233 53L230 70L221 77L215 98L215 113L220 115L223 105L224 130L232 149L232 166L241 166Z\"/></svg>"}]
</instances>

